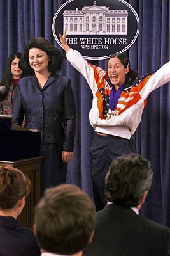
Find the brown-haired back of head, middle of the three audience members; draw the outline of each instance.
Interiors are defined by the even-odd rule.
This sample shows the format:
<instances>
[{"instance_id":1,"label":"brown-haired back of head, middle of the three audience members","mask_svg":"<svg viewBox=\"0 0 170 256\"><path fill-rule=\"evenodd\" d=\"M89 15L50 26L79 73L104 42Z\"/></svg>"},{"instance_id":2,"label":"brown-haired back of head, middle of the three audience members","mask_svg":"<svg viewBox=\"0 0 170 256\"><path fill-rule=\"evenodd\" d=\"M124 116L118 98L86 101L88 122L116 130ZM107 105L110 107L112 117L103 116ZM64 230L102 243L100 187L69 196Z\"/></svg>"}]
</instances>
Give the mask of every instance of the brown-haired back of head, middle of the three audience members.
<instances>
[{"instance_id":1,"label":"brown-haired back of head, middle of the three audience members","mask_svg":"<svg viewBox=\"0 0 170 256\"><path fill-rule=\"evenodd\" d=\"M35 211L36 236L45 252L71 255L89 243L95 225L92 200L78 186L46 189Z\"/></svg>"}]
</instances>

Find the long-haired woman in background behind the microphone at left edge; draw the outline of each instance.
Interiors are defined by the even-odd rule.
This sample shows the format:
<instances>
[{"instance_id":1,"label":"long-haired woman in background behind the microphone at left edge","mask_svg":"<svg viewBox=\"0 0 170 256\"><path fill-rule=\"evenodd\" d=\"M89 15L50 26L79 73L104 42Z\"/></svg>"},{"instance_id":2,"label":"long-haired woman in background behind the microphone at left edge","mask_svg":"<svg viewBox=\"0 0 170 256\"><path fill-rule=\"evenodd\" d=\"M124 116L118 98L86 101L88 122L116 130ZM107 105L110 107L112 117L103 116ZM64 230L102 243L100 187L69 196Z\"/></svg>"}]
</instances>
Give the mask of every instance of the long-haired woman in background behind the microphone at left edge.
<instances>
[{"instance_id":1,"label":"long-haired woman in background behind the microphone at left edge","mask_svg":"<svg viewBox=\"0 0 170 256\"><path fill-rule=\"evenodd\" d=\"M13 52L8 57L4 77L0 83L0 86L3 85L6 87L6 91L3 93L0 99L1 115L11 115L13 97L15 94L16 86L20 77L24 76L22 70L18 66L20 57L20 52Z\"/></svg>"}]
</instances>

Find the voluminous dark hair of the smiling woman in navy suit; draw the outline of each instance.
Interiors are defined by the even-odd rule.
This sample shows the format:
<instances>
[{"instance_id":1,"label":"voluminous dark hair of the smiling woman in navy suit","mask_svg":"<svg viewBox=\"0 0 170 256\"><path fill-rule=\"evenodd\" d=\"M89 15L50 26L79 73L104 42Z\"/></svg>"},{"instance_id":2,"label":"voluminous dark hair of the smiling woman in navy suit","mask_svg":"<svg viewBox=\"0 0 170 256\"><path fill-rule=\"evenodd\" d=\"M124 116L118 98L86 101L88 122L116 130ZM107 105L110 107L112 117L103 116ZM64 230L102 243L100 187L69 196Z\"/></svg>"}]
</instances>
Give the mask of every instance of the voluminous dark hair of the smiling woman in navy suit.
<instances>
[{"instance_id":1,"label":"voluminous dark hair of the smiling woman in navy suit","mask_svg":"<svg viewBox=\"0 0 170 256\"><path fill-rule=\"evenodd\" d=\"M27 42L24 47L22 57L20 58L19 67L26 72L27 76L34 74L34 70L29 65L29 50L31 48L38 48L46 52L50 57L48 70L51 73L60 71L63 61L62 53L45 38L35 37Z\"/></svg>"}]
</instances>

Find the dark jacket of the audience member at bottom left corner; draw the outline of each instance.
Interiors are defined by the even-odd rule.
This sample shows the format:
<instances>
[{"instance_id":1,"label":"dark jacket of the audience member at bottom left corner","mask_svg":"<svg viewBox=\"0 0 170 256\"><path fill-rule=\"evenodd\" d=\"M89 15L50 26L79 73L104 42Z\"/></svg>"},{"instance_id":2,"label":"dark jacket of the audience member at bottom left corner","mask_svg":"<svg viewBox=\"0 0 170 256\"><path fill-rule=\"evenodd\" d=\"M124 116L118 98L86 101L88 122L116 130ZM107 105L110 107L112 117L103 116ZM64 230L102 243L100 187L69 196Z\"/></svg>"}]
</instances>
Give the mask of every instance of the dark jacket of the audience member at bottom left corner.
<instances>
[{"instance_id":1,"label":"dark jacket of the audience member at bottom left corner","mask_svg":"<svg viewBox=\"0 0 170 256\"><path fill-rule=\"evenodd\" d=\"M39 246L30 228L15 218L0 216L0 256L38 256Z\"/></svg>"}]
</instances>

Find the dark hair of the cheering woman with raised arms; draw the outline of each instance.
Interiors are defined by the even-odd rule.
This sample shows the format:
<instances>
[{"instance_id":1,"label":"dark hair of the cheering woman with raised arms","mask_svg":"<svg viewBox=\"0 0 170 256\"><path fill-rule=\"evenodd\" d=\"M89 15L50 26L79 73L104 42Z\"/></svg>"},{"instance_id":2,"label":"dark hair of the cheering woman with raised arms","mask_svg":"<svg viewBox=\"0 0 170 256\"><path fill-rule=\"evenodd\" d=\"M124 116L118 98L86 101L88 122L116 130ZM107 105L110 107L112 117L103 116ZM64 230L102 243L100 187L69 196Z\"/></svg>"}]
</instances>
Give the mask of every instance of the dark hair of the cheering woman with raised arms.
<instances>
[{"instance_id":1,"label":"dark hair of the cheering woman with raised arms","mask_svg":"<svg viewBox=\"0 0 170 256\"><path fill-rule=\"evenodd\" d=\"M129 67L129 72L126 74L126 80L129 84L131 84L132 81L134 81L136 79L136 77L138 76L138 72L136 70L131 69L130 61L126 54L113 53L113 54L111 54L109 60L111 58L115 58L115 57L120 60L120 62L124 65L125 68Z\"/></svg>"}]
</instances>

